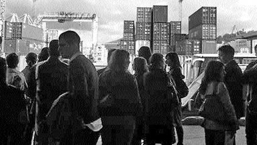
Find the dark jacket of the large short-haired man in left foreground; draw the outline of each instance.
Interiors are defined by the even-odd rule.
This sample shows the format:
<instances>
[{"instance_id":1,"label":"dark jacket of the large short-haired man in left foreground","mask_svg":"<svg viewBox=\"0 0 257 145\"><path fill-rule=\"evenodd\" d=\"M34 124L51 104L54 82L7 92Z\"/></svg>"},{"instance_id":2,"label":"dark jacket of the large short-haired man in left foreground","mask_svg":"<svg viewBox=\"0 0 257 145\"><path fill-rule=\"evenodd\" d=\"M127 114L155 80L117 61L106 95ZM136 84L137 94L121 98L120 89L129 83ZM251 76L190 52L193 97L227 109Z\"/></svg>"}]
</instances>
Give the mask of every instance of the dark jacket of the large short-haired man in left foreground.
<instances>
[{"instance_id":1,"label":"dark jacket of the large short-haired man in left foreground","mask_svg":"<svg viewBox=\"0 0 257 145\"><path fill-rule=\"evenodd\" d=\"M74 106L85 124L99 118L98 74L93 63L81 52L70 59L69 91L75 99Z\"/></svg>"}]
</instances>

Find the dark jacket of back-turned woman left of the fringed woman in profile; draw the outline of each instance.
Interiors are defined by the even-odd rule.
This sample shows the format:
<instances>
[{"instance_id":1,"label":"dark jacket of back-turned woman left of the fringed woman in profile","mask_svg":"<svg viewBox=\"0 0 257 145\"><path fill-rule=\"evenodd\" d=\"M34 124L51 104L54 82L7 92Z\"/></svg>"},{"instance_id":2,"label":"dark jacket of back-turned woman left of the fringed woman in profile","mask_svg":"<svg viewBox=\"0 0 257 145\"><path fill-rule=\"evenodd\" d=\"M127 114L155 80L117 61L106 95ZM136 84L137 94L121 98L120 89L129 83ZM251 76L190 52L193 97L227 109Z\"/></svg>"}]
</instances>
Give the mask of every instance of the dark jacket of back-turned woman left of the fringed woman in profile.
<instances>
[{"instance_id":1,"label":"dark jacket of back-turned woman left of the fringed woman in profile","mask_svg":"<svg viewBox=\"0 0 257 145\"><path fill-rule=\"evenodd\" d=\"M148 124L165 125L172 127L172 109L169 106L168 88L169 76L161 69L151 69L144 76L144 87L149 98L148 102Z\"/></svg>"}]
</instances>

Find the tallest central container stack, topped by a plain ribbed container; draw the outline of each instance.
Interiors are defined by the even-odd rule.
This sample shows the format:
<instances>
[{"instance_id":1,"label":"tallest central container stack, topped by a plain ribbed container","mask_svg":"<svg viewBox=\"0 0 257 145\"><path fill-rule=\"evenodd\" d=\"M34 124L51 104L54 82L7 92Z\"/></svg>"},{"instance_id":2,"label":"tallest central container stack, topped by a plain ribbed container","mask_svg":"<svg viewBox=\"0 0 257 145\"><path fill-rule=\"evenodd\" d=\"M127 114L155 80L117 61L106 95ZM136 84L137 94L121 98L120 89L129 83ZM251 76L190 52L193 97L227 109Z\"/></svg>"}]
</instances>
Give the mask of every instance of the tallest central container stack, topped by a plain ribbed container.
<instances>
[{"instance_id":1,"label":"tallest central container stack, topped by a plain ribbed container","mask_svg":"<svg viewBox=\"0 0 257 145\"><path fill-rule=\"evenodd\" d=\"M166 54L170 42L170 24L168 21L168 6L153 6L152 8L152 53Z\"/></svg>"}]
</instances>

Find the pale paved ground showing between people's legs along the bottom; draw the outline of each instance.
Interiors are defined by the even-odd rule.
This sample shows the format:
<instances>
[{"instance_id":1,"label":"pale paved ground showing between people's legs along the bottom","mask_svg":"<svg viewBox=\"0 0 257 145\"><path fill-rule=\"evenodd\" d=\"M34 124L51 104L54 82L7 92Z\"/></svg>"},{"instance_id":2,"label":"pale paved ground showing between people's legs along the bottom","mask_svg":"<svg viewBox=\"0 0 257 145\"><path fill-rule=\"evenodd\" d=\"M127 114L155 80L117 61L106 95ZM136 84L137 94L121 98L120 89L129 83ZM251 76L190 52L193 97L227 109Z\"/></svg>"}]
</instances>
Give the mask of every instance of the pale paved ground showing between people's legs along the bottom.
<instances>
[{"instance_id":1,"label":"pale paved ground showing between people's legs along the bottom","mask_svg":"<svg viewBox=\"0 0 257 145\"><path fill-rule=\"evenodd\" d=\"M197 125L183 126L184 128L184 145L205 145L204 128ZM99 138L97 145L101 145ZM236 134L236 144L245 145L245 127L240 127Z\"/></svg>"}]
</instances>

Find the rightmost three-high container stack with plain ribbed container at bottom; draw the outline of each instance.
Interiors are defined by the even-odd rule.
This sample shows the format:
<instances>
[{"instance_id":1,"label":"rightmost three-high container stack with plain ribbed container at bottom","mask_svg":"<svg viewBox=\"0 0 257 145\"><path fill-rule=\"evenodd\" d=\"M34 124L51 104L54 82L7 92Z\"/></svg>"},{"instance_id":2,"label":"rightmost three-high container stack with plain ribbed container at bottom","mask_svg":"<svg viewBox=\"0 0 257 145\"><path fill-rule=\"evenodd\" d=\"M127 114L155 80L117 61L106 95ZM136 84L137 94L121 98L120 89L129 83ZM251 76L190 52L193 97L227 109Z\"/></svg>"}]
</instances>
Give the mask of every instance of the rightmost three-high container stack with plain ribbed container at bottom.
<instances>
[{"instance_id":1,"label":"rightmost three-high container stack with plain ribbed container at bottom","mask_svg":"<svg viewBox=\"0 0 257 145\"><path fill-rule=\"evenodd\" d=\"M200 53L217 52L217 8L201 7L189 16L189 39L199 40Z\"/></svg>"}]
</instances>

